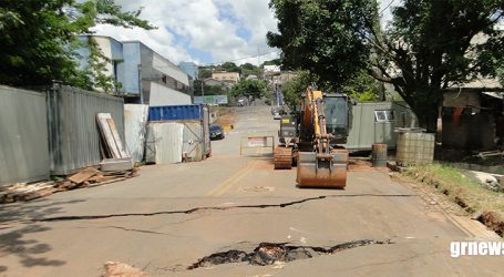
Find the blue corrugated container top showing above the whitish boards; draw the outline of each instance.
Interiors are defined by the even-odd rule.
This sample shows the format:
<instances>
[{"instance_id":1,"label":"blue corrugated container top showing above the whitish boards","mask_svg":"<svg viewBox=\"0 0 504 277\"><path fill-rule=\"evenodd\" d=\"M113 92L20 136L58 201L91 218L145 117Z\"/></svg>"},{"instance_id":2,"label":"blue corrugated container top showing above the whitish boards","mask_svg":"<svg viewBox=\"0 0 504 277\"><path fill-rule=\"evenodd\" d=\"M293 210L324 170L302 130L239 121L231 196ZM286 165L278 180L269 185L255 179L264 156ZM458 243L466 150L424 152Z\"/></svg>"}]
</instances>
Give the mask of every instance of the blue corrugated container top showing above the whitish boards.
<instances>
[{"instance_id":1,"label":"blue corrugated container top showing above the whitish boards","mask_svg":"<svg viewBox=\"0 0 504 277\"><path fill-rule=\"evenodd\" d=\"M151 106L148 121L202 120L203 105L165 105Z\"/></svg>"}]
</instances>

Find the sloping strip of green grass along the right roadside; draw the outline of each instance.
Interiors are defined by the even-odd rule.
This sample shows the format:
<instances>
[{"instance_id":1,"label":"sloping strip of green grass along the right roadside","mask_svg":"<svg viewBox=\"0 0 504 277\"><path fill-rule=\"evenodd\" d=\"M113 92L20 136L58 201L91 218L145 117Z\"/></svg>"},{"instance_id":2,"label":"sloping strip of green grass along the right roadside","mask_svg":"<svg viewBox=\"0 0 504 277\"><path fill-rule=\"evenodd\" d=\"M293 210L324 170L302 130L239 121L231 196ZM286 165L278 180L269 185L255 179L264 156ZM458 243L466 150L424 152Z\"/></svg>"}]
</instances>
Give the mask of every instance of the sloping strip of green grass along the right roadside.
<instances>
[{"instance_id":1,"label":"sloping strip of green grass along the right roadside","mask_svg":"<svg viewBox=\"0 0 504 277\"><path fill-rule=\"evenodd\" d=\"M404 175L434 186L467 213L492 213L504 219L504 194L488 191L443 164L412 166Z\"/></svg>"}]
</instances>

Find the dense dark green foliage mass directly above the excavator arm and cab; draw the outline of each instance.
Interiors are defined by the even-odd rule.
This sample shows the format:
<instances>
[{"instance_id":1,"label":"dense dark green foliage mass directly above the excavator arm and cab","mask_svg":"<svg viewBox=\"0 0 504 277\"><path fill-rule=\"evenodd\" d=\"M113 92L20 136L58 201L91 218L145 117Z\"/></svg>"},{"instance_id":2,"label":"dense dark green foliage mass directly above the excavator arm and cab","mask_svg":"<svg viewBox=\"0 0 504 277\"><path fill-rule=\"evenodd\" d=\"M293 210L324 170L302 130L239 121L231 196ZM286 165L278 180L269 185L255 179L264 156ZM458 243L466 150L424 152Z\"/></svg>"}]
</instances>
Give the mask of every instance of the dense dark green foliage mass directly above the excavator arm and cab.
<instances>
[{"instance_id":1,"label":"dense dark green foliage mass directly above the excavator arm and cab","mask_svg":"<svg viewBox=\"0 0 504 277\"><path fill-rule=\"evenodd\" d=\"M369 22L378 18L374 0L271 0L279 33L268 32L270 47L281 49L285 69L300 69L339 89L366 68Z\"/></svg>"}]
</instances>

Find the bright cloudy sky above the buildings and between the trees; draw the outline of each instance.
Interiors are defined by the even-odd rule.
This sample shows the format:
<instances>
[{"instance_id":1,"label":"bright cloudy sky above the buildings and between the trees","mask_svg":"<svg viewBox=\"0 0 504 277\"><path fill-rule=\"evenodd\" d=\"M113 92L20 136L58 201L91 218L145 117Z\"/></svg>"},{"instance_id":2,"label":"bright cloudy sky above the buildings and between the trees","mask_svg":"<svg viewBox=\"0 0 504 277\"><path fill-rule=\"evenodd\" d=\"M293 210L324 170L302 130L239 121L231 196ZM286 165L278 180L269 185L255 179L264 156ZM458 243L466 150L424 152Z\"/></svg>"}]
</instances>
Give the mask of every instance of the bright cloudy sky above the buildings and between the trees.
<instances>
[{"instance_id":1,"label":"bright cloudy sky above the buildings and between the trees","mask_svg":"<svg viewBox=\"0 0 504 277\"><path fill-rule=\"evenodd\" d=\"M97 25L99 35L119 41L140 40L178 64L192 61L199 65L233 61L258 64L278 58L269 48L266 33L277 31L277 20L268 8L269 0L115 0L124 10L143 7L141 18L156 30ZM381 0L384 9L400 0ZM390 17L390 8L383 17ZM260 54L260 57L257 57Z\"/></svg>"}]
</instances>

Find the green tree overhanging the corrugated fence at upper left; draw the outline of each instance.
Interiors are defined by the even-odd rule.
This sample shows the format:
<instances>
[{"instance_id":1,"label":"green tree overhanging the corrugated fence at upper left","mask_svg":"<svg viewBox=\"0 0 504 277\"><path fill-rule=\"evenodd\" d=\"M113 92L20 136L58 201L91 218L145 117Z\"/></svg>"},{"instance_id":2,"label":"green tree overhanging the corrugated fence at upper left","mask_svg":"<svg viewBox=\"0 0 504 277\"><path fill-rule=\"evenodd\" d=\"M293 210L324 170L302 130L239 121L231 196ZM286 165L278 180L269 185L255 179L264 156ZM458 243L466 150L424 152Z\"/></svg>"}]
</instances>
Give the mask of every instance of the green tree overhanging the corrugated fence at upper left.
<instances>
[{"instance_id":1,"label":"green tree overhanging the corrugated fence at upper left","mask_svg":"<svg viewBox=\"0 0 504 277\"><path fill-rule=\"evenodd\" d=\"M94 72L79 71L75 34L95 24L152 29L140 11L123 12L113 0L4 0L0 8L0 83L45 85L53 80L85 88ZM102 80L103 81L103 80Z\"/></svg>"}]
</instances>

